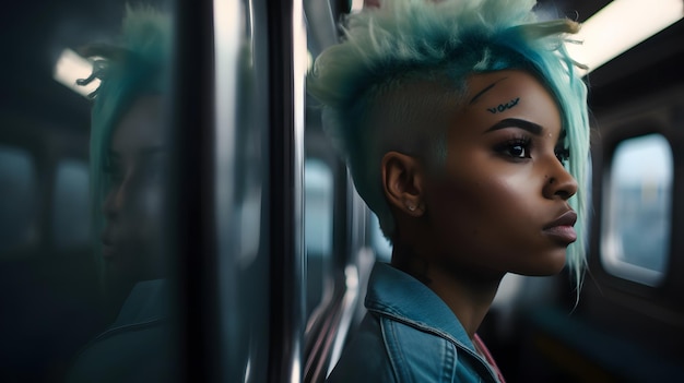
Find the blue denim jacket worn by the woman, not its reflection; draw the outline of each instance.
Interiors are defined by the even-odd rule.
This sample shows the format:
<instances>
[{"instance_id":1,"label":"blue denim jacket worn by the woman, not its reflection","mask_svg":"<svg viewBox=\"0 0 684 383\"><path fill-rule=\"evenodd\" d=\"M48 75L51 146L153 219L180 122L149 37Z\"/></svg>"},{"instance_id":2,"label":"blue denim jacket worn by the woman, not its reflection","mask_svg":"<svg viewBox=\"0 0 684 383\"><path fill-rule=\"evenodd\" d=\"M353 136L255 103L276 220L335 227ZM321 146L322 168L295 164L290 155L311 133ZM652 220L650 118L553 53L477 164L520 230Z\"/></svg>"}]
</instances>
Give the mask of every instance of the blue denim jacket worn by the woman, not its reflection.
<instances>
[{"instance_id":1,"label":"blue denim jacket worn by the woman, not its reflection","mask_svg":"<svg viewBox=\"0 0 684 383\"><path fill-rule=\"evenodd\" d=\"M365 306L328 382L499 382L453 312L409 274L376 263Z\"/></svg>"}]
</instances>

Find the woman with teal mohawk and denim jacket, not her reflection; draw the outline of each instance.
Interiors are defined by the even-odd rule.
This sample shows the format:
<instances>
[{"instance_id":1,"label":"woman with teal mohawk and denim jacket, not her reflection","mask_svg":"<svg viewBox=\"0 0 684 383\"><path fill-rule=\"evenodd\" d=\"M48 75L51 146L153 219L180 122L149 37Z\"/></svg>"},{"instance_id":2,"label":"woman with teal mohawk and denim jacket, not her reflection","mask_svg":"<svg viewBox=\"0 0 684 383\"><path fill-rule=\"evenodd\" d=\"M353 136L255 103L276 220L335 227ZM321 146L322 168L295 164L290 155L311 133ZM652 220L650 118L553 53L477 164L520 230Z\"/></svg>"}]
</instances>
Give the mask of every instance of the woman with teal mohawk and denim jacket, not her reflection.
<instances>
[{"instance_id":1,"label":"woman with teal mohawk and denim jacket, not her reflection","mask_svg":"<svg viewBox=\"0 0 684 383\"><path fill-rule=\"evenodd\" d=\"M316 60L308 92L393 243L330 381L502 382L476 331L504 275L567 260L579 287L589 128L563 46L578 25L533 5L381 2Z\"/></svg>"}]
</instances>

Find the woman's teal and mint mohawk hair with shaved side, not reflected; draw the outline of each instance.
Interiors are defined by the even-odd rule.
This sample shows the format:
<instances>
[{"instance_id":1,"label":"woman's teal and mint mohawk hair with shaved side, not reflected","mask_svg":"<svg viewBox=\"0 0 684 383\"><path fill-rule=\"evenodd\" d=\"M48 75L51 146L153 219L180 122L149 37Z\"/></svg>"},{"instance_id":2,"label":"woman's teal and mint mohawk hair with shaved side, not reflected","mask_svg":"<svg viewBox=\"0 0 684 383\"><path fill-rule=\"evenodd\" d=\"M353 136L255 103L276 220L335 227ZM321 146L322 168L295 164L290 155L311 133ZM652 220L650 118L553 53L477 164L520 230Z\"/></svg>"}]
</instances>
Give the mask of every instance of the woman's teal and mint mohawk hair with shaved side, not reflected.
<instances>
[{"instance_id":1,"label":"woman's teal and mint mohawk hair with shaved side, not reflected","mask_svg":"<svg viewBox=\"0 0 684 383\"><path fill-rule=\"evenodd\" d=\"M563 34L578 26L538 22L533 5L533 0L384 1L350 15L345 41L316 60L308 92L323 104L326 129L388 238L396 239L397 222L381 182L384 155L397 151L444 171L449 111L471 101L476 74L516 70L536 79L559 109L561 144L571 153L568 170L585 180L586 87L563 45ZM458 131L453 134L458 140ZM585 199L580 190L570 200L580 218ZM574 250L569 264L579 271L581 243Z\"/></svg>"}]
</instances>

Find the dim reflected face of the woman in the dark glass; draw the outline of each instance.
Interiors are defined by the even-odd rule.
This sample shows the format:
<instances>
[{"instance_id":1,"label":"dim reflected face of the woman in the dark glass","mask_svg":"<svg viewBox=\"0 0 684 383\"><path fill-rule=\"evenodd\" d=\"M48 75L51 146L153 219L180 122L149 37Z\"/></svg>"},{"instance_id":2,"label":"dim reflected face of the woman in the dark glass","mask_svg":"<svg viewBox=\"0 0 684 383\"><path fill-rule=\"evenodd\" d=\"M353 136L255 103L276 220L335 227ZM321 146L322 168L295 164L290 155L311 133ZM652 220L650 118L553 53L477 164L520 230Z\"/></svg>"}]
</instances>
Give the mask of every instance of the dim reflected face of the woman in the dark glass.
<instances>
[{"instance_id":1,"label":"dim reflected face of the woman in the dark glass","mask_svg":"<svg viewBox=\"0 0 684 383\"><path fill-rule=\"evenodd\" d=\"M115 127L107 153L103 256L108 272L131 282L163 274L160 244L168 146L162 117L160 96L139 98Z\"/></svg>"}]
</instances>

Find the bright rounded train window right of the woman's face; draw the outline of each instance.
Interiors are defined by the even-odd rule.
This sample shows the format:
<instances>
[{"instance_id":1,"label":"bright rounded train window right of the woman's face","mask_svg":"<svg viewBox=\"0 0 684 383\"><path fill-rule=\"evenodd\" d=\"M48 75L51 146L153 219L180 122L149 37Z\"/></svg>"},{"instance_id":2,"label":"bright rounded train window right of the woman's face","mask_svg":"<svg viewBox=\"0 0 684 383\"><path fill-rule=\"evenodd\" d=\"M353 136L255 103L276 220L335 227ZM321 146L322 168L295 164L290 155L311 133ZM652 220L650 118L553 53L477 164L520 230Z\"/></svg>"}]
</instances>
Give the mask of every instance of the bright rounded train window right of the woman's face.
<instances>
[{"instance_id":1,"label":"bright rounded train window right of the woman's face","mask_svg":"<svg viewBox=\"0 0 684 383\"><path fill-rule=\"evenodd\" d=\"M670 253L672 149L660 134L620 143L603 219L601 262L621 278L656 286Z\"/></svg>"}]
</instances>

